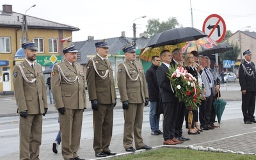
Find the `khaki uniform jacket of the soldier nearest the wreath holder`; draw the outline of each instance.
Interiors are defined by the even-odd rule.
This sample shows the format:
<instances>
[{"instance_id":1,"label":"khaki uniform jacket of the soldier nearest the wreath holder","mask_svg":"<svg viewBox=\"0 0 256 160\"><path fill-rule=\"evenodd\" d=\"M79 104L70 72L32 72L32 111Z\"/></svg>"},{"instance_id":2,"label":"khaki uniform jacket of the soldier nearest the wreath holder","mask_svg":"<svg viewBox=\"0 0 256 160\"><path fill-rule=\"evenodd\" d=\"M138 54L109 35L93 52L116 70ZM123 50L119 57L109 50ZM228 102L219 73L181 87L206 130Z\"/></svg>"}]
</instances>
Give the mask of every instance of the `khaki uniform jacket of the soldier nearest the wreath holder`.
<instances>
[{"instance_id":1,"label":"khaki uniform jacket of the soldier nearest the wreath holder","mask_svg":"<svg viewBox=\"0 0 256 160\"><path fill-rule=\"evenodd\" d=\"M147 81L140 62L125 59L118 65L118 88L121 102L128 100L131 104L141 104L148 98Z\"/></svg>"}]
</instances>

